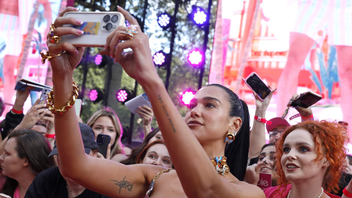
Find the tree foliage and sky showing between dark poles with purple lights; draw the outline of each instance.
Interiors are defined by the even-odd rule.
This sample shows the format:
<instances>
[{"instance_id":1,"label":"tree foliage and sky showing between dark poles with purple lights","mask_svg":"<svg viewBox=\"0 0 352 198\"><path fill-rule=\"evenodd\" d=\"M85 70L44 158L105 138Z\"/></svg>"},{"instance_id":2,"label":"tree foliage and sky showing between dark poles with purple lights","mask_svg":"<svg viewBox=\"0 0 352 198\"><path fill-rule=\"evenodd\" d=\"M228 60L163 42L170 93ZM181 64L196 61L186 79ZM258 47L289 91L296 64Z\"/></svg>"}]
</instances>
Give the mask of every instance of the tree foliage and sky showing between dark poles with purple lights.
<instances>
[{"instance_id":1,"label":"tree foliage and sky showing between dark poles with purple lights","mask_svg":"<svg viewBox=\"0 0 352 198\"><path fill-rule=\"evenodd\" d=\"M76 6L80 7L81 10L91 11L116 11L116 5L125 7L129 10L133 16L139 21L142 21L143 16L143 7L145 0L76 0ZM187 113L187 107L182 104L180 100L181 93L185 89L193 89L196 91L199 81L199 69L195 69L188 64L187 55L188 52L193 48L202 48L204 42L204 30L198 28L189 20L188 14L192 10L192 5L200 6L204 10L207 10L208 0L179 0L180 7L177 14L177 23L176 23L176 37L174 44L174 52L171 62L171 76L169 81L168 92L171 99L174 101L174 104L180 111L182 116L185 116ZM150 47L152 54L159 50L163 50L168 53L170 51L170 38L171 32L169 30L163 30L157 24L157 14L162 12L168 12L171 16L174 13L175 0L149 0L149 5L147 7L146 19L145 19L145 29L144 32L150 37ZM216 7L217 1L213 0L210 14L210 28L208 35L208 44L206 51L206 62L205 62L205 72L203 75L202 86L205 86L208 82L209 75L209 66L211 51L213 45L214 37L214 26L215 26L215 17L216 17ZM140 23L142 24L142 23ZM91 48L90 55L94 56L98 52L98 48ZM118 63L113 67L121 67ZM125 72L118 69L121 72L115 72L113 75L118 75L118 78L115 78L114 82L111 82L111 88L118 90L120 88L126 87L133 90L135 81L131 79ZM157 68L159 76L165 81L166 69ZM79 85L82 83L83 79L83 67L80 65L75 71L75 79ZM86 82L86 95L89 92L89 88L99 87L101 89L105 88L107 78L107 66L104 69L98 68L94 61L88 64L88 73L87 73L87 82ZM136 95L144 93L142 87L138 85ZM83 100L82 106L82 119L84 122L87 122L89 117L96 111L102 108L103 102L94 104L89 101L87 97ZM114 104L111 104L112 101L109 101L109 106L113 106L113 109L117 112L117 115L120 118L120 122L123 126L130 125L130 111L124 105L120 105L115 100ZM152 127L157 127L156 120L153 119ZM133 130L133 139L142 138L142 120L135 116L134 119L134 130Z\"/></svg>"}]
</instances>

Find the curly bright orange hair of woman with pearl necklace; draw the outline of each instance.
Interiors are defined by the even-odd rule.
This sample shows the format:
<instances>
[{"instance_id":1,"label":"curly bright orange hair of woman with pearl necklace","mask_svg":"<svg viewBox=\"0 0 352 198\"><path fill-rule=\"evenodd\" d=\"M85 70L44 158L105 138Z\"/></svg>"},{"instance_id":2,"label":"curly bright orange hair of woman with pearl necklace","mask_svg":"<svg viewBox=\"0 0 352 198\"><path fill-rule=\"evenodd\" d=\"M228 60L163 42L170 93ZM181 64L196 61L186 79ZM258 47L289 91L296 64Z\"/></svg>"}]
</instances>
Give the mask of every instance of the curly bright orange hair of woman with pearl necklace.
<instances>
[{"instance_id":1,"label":"curly bright orange hair of woman with pearl necklace","mask_svg":"<svg viewBox=\"0 0 352 198\"><path fill-rule=\"evenodd\" d=\"M346 135L346 129L336 122L328 122L326 120L308 120L296 125L290 126L284 134L281 136L279 141L276 143L276 157L277 157L277 193L279 193L279 188L284 186L282 192L287 188L288 180L285 177L283 168L281 166L281 157L283 155L283 144L287 135L296 129L305 129L310 134L313 135L315 144L317 145L317 154L318 157L315 161L322 159L323 155L326 154L326 159L330 161L330 166L327 168L322 187L326 192L337 192L339 187L339 178L341 175L342 169L346 166L345 156L346 156L346 147L345 142L348 141ZM323 147L321 149L321 147ZM323 153L322 153L322 152ZM281 193L281 197L282 197Z\"/></svg>"}]
</instances>

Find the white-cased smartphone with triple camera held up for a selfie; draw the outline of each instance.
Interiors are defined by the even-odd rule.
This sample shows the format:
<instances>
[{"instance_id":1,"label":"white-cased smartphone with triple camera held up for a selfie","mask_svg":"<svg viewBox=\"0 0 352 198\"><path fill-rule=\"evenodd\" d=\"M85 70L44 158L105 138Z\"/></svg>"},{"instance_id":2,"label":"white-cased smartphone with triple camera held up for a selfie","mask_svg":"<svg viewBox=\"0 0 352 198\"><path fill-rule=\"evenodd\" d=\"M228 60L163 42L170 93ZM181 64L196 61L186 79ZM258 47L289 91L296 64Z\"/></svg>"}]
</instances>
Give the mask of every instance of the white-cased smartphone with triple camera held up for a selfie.
<instances>
[{"instance_id":1,"label":"white-cased smartphone with triple camera held up for a selfie","mask_svg":"<svg viewBox=\"0 0 352 198\"><path fill-rule=\"evenodd\" d=\"M125 24L125 17L120 12L67 12L64 17L83 21L82 25L64 25L82 30L83 35L63 35L61 42L82 47L104 47L109 34Z\"/></svg>"}]
</instances>

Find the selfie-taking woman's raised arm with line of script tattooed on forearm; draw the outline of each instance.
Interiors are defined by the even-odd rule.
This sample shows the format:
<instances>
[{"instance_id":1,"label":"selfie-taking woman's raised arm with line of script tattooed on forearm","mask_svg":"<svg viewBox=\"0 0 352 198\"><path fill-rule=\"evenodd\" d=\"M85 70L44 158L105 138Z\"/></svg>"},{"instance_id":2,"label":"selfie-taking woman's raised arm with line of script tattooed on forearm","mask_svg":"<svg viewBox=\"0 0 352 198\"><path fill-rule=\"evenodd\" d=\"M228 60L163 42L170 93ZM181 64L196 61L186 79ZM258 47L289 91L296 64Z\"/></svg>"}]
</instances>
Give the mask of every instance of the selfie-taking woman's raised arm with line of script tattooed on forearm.
<instances>
[{"instance_id":1,"label":"selfie-taking woman's raised arm with line of script tattooed on forearm","mask_svg":"<svg viewBox=\"0 0 352 198\"><path fill-rule=\"evenodd\" d=\"M258 197L259 194L260 197L259 188L257 191L257 188L242 182L234 185L219 177L205 150L184 122L172 103L163 81L159 78L152 61L148 36L142 33L137 20L130 13L120 7L119 12L130 21L133 25L131 28L135 27L137 33L134 34L133 39L119 43L119 40L124 40L125 36L123 32L117 32L114 37L108 38L107 46L115 61L118 61L126 73L142 85L148 95L186 195L188 197ZM122 53L126 48L131 48L132 51Z\"/></svg>"}]
</instances>

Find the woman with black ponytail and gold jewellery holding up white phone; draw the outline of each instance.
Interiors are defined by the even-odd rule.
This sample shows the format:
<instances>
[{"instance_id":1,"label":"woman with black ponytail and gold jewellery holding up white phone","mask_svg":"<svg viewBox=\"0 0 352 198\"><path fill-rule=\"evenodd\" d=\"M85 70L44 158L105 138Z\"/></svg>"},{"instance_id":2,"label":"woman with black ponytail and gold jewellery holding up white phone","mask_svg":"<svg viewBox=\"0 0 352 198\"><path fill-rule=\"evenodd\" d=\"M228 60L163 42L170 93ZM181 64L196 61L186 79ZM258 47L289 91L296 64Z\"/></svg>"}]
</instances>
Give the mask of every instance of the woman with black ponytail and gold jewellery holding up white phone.
<instances>
[{"instance_id":1,"label":"woman with black ponytail and gold jewellery holding up white phone","mask_svg":"<svg viewBox=\"0 0 352 198\"><path fill-rule=\"evenodd\" d=\"M208 85L197 91L183 120L155 70L148 36L130 13L121 7L118 9L131 27L117 27L100 53L115 58L150 96L176 170L146 164L126 166L84 153L82 142L75 141L81 135L75 110L68 103L77 90L72 76L84 48L66 42L52 43L48 39L55 96L50 109L59 112L55 114L55 131L62 175L109 197L264 197L259 187L240 181L244 177L249 147L246 103L226 87ZM81 23L62 17L68 11L77 10L68 7L59 14L54 22L54 35L79 36L74 28L62 27ZM126 48L132 51L122 53ZM226 143L231 144L225 153ZM87 175L91 169L96 171ZM230 172L238 172L238 178Z\"/></svg>"}]
</instances>

